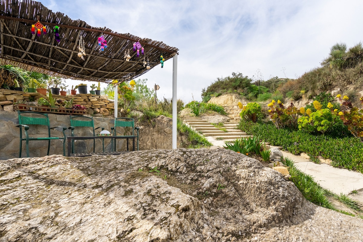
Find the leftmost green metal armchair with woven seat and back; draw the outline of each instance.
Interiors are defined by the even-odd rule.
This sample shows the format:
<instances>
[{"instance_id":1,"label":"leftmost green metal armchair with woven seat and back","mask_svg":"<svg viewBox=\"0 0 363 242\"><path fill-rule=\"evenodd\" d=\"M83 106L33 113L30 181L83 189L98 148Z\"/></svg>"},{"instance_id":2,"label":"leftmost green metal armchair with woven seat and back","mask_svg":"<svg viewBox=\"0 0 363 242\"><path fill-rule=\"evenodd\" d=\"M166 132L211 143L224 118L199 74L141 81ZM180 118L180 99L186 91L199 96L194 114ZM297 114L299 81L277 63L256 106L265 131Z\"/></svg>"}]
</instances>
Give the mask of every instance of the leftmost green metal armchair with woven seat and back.
<instances>
[{"instance_id":1,"label":"leftmost green metal armchair with woven seat and back","mask_svg":"<svg viewBox=\"0 0 363 242\"><path fill-rule=\"evenodd\" d=\"M29 115L29 114L31 114L31 115ZM20 128L19 158L21 158L21 149L22 149L22 144L23 144L24 140L25 140L25 145L26 145L26 157L29 157L29 140L48 140L48 151L47 151L46 155L49 155L50 140L62 139L63 140L63 155L64 156L66 155L66 153L65 153L65 142L66 142L65 130L67 129L66 127L57 126L57 127L50 128L48 114L43 114L41 112L32 112L32 111L20 112L18 110L18 118L19 118L19 125L17 125L16 127ZM48 127L48 137L38 137L38 138L29 137L29 134L28 134L29 125L47 126ZM24 132L25 132L25 138L23 138L23 128L24 128ZM64 137L63 138L51 137L50 130L53 128L62 128Z\"/></svg>"}]
</instances>

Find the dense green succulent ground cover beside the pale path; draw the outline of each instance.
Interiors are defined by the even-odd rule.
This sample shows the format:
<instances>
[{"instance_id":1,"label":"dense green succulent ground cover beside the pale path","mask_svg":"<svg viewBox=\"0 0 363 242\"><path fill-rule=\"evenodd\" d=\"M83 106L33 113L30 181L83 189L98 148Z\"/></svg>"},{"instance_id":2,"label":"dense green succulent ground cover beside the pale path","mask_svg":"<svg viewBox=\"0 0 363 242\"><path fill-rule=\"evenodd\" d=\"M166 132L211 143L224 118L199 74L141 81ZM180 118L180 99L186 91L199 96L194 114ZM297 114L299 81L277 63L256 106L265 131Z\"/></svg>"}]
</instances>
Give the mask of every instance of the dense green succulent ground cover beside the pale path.
<instances>
[{"instance_id":1,"label":"dense green succulent ground cover beside the pale path","mask_svg":"<svg viewBox=\"0 0 363 242\"><path fill-rule=\"evenodd\" d=\"M363 143L355 137L337 138L328 135L312 135L303 131L277 129L270 123L252 123L241 120L238 128L250 135L258 135L274 146L298 155L307 153L317 161L318 156L331 159L334 167L344 167L363 173Z\"/></svg>"}]
</instances>

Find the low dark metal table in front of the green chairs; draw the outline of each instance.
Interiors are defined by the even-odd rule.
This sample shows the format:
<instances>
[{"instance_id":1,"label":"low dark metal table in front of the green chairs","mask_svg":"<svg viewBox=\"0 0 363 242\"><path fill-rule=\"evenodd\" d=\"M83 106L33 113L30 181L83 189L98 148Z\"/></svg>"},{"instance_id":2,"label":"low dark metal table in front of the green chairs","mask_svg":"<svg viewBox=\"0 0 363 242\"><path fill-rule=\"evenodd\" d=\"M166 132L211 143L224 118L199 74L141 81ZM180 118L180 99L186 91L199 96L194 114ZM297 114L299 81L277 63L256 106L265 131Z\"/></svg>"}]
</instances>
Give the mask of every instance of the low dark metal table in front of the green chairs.
<instances>
[{"instance_id":1,"label":"low dark metal table in front of the green chairs","mask_svg":"<svg viewBox=\"0 0 363 242\"><path fill-rule=\"evenodd\" d=\"M68 155L67 156L78 156L78 157L84 157L84 156L91 156L91 155L119 155L124 154L129 151L129 139L132 139L132 151L135 151L135 138L137 136L129 135L129 136L69 136L67 137L68 142ZM110 151L110 152L95 152L95 153L71 153L72 151L72 140L79 140L79 139L127 139L127 147L126 151Z\"/></svg>"}]
</instances>

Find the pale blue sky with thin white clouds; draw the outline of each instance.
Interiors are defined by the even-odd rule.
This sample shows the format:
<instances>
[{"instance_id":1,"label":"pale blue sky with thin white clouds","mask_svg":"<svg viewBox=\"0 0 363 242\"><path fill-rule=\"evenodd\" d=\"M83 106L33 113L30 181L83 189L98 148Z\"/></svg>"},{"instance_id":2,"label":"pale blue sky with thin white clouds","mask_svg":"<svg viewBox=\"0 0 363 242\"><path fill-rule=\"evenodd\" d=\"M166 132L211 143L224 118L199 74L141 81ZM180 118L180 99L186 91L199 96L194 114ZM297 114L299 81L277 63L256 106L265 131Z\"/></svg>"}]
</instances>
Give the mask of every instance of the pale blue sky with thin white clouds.
<instances>
[{"instance_id":1,"label":"pale blue sky with thin white clouds","mask_svg":"<svg viewBox=\"0 0 363 242\"><path fill-rule=\"evenodd\" d=\"M362 0L44 0L53 12L94 27L179 49L177 98L201 101L217 78L298 78L321 66L336 43L363 40ZM173 59L148 71L158 99L172 98ZM69 86L79 81L66 81ZM91 82L90 82L91 84ZM101 84L101 87L105 87Z\"/></svg>"}]
</instances>

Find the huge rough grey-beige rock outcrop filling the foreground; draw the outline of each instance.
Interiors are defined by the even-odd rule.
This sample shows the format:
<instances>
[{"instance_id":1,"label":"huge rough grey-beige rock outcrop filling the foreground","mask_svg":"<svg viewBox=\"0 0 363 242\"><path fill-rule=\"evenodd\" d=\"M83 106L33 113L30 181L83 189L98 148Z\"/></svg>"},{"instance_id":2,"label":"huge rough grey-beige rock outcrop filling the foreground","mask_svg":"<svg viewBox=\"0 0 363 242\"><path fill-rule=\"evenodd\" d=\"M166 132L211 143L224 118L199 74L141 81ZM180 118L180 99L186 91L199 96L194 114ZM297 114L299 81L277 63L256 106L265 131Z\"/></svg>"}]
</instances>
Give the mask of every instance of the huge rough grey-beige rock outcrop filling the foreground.
<instances>
[{"instance_id":1,"label":"huge rough grey-beige rock outcrop filling the foreground","mask_svg":"<svg viewBox=\"0 0 363 242\"><path fill-rule=\"evenodd\" d=\"M0 241L362 239L359 218L225 149L12 159L0 176Z\"/></svg>"}]
</instances>

